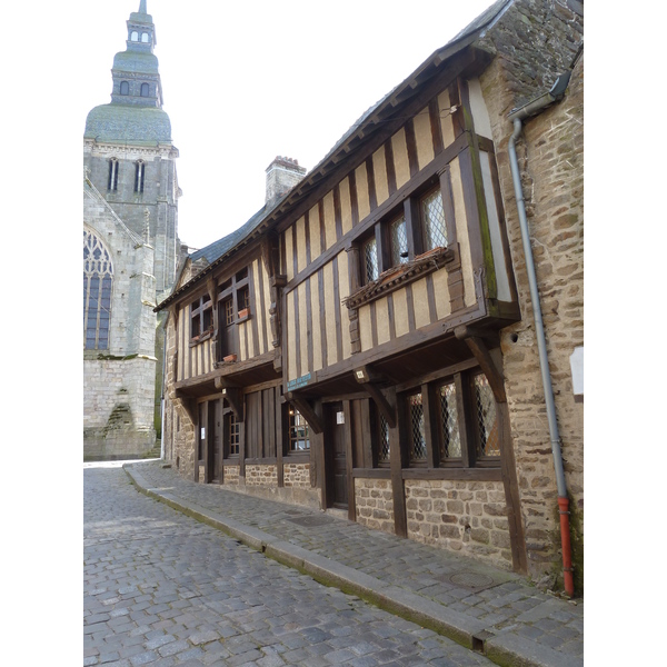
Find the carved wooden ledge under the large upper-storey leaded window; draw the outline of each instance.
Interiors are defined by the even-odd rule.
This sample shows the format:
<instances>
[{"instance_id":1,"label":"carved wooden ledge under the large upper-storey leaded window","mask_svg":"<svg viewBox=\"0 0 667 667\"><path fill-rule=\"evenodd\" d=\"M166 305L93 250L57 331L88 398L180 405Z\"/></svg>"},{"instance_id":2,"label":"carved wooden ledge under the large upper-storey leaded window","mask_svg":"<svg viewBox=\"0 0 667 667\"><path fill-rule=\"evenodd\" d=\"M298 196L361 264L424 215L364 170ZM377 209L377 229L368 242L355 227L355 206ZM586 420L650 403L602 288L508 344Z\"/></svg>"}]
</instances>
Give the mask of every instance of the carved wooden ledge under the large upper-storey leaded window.
<instances>
[{"instance_id":1,"label":"carved wooden ledge under the large upper-storey leaded window","mask_svg":"<svg viewBox=\"0 0 667 667\"><path fill-rule=\"evenodd\" d=\"M427 273L442 268L456 259L456 252L451 248L434 248L398 267L387 269L380 276L351 293L344 303L348 308L359 308L375 299L379 299L410 282L419 280Z\"/></svg>"}]
</instances>

